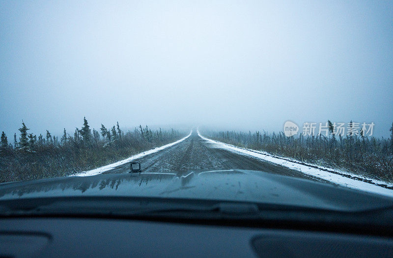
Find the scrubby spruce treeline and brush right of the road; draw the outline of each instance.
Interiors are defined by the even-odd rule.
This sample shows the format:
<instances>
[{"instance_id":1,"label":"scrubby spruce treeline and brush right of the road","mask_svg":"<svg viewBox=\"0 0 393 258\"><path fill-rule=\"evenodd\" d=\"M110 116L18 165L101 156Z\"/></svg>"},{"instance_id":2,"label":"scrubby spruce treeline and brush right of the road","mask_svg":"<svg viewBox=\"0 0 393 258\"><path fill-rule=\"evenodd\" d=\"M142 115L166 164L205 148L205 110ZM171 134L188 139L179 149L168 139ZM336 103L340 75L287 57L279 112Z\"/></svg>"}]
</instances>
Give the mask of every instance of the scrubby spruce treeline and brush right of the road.
<instances>
[{"instance_id":1,"label":"scrubby spruce treeline and brush right of the road","mask_svg":"<svg viewBox=\"0 0 393 258\"><path fill-rule=\"evenodd\" d=\"M262 150L320 166L393 182L393 125L391 137L375 138L360 135L336 136L330 130L324 135L286 137L283 132L207 131L211 139L232 145Z\"/></svg>"}]
</instances>

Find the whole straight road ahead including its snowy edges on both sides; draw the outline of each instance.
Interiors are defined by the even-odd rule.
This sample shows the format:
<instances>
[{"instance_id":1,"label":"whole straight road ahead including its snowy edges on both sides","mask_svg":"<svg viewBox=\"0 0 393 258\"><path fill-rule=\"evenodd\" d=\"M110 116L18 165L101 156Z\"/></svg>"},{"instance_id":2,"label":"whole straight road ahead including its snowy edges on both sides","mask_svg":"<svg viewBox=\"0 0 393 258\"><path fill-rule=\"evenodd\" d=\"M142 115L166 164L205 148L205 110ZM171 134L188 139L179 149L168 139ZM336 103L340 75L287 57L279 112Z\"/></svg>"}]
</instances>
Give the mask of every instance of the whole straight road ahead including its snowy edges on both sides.
<instances>
[{"instance_id":1,"label":"whole straight road ahead including its snowy edges on both sides","mask_svg":"<svg viewBox=\"0 0 393 258\"><path fill-rule=\"evenodd\" d=\"M308 178L393 197L393 184L213 141L197 130L177 142L77 175L128 173L131 161L140 162L143 173L171 173L180 177L190 172L254 170Z\"/></svg>"}]
</instances>

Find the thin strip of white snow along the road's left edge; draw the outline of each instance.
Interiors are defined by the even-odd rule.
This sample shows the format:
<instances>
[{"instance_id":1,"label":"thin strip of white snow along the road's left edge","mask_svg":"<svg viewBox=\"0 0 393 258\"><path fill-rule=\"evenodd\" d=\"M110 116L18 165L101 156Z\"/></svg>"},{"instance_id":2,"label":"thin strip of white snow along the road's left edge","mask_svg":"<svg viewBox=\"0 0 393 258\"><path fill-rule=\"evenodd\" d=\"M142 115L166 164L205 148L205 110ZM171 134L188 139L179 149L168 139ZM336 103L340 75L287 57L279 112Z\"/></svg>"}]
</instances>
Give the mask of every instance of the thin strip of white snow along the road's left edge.
<instances>
[{"instance_id":1,"label":"thin strip of white snow along the road's left edge","mask_svg":"<svg viewBox=\"0 0 393 258\"><path fill-rule=\"evenodd\" d=\"M112 170L115 167L118 167L118 166L123 165L125 163L129 163L129 162L131 162L131 161L133 161L135 159L139 159L139 158L144 157L146 155L149 155L149 154L155 153L157 151L163 150L165 148L168 148L170 146L173 146L174 144L180 143L180 142L186 140L187 138L189 138L192 132L193 131L191 131L189 135L187 135L183 139L180 139L179 141L176 141L176 142L173 142L173 143L168 143L167 145L163 145L163 146L158 147L158 148L154 148L154 149L150 149L150 150L147 150L147 151L140 152L140 153L138 153L138 154L136 154L134 156L131 156L131 157L127 158L127 159L120 160L120 161L117 161L115 163L112 163L112 164L109 164L109 165L106 165L106 166L103 166L103 167L100 167L100 168L97 168L97 169L93 169L93 170L89 170L89 171L83 171L83 172L80 172L80 173L72 174L70 176L89 176L89 175L101 174L103 172Z\"/></svg>"}]
</instances>

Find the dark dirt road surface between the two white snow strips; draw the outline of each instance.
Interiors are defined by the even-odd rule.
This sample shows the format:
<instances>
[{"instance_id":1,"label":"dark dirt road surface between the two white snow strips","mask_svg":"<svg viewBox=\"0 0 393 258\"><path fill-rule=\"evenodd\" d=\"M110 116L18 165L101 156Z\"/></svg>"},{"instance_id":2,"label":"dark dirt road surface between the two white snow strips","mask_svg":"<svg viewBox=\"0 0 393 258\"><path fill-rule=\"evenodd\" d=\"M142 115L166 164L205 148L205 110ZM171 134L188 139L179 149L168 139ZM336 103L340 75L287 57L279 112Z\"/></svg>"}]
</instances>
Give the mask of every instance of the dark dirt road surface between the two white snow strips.
<instances>
[{"instance_id":1,"label":"dark dirt road surface between the two white snow strips","mask_svg":"<svg viewBox=\"0 0 393 258\"><path fill-rule=\"evenodd\" d=\"M191 136L184 141L156 153L146 155L136 161L140 162L142 172L175 173L178 176L192 171L242 169L321 181L321 179L313 178L302 172L220 148L216 144L200 138L196 130L193 130ZM105 173L128 172L130 172L129 163Z\"/></svg>"}]
</instances>

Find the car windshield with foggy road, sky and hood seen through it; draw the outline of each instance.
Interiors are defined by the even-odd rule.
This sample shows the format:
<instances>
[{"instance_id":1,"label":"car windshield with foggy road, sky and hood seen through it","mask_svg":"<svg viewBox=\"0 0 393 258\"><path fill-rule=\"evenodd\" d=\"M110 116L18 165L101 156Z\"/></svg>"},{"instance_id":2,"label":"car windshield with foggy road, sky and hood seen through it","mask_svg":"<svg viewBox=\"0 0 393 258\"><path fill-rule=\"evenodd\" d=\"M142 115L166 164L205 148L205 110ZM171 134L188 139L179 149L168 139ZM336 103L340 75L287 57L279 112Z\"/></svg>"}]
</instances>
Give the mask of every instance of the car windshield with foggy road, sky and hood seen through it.
<instances>
[{"instance_id":1,"label":"car windshield with foggy road, sky and hood seen through it","mask_svg":"<svg viewBox=\"0 0 393 258\"><path fill-rule=\"evenodd\" d=\"M0 1L0 24L0 213L393 206L391 1Z\"/></svg>"}]
</instances>

